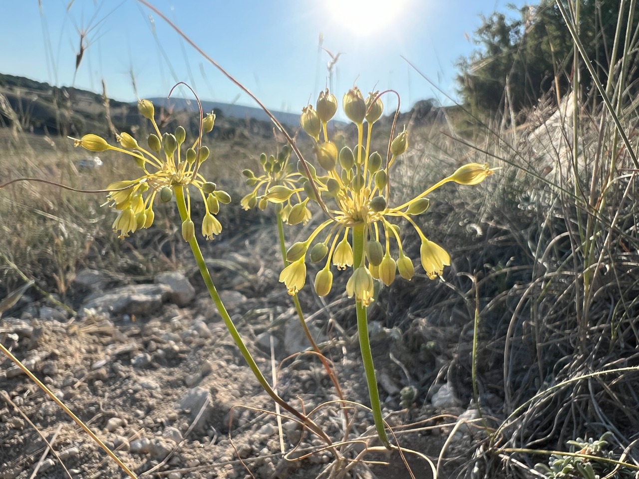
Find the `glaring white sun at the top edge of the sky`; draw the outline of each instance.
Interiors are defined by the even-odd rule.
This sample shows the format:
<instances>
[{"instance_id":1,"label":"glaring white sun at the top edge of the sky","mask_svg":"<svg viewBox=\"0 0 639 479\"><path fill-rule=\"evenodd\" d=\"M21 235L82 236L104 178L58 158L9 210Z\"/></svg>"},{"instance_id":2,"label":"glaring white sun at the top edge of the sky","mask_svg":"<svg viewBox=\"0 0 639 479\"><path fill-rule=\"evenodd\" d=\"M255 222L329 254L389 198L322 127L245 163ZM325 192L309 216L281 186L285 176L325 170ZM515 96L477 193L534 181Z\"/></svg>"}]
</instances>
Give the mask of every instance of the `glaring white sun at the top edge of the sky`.
<instances>
[{"instance_id":1,"label":"glaring white sun at the top edge of the sky","mask_svg":"<svg viewBox=\"0 0 639 479\"><path fill-rule=\"evenodd\" d=\"M358 36L380 34L397 25L406 0L327 0L328 11L343 27Z\"/></svg>"}]
</instances>

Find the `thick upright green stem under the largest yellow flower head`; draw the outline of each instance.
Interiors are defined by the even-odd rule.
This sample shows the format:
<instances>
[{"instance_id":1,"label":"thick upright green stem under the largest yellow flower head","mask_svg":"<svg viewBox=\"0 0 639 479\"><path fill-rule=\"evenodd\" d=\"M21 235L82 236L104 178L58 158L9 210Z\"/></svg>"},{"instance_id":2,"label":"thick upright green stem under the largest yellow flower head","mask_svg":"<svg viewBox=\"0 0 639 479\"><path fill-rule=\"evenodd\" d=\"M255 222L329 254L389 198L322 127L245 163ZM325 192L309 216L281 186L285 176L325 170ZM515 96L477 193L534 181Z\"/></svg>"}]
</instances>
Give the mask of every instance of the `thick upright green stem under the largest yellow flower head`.
<instances>
[{"instance_id":1,"label":"thick upright green stem under the largest yellow flower head","mask_svg":"<svg viewBox=\"0 0 639 479\"><path fill-rule=\"evenodd\" d=\"M353 271L362 265L362 257L364 255L364 238L366 234L366 224L357 223L353 226ZM362 301L355 300L355 308L357 310L357 335L360 342L360 351L362 352L362 362L364 363L364 372L366 373L366 384L371 399L371 409L373 410L373 419L375 421L375 429L380 436L381 443L390 449L389 438L384 429L384 420L381 417L380 392L377 388L377 379L375 377L375 367L373 365L373 353L371 353L371 342L368 338L368 319L366 316L366 306L362 305Z\"/></svg>"}]
</instances>

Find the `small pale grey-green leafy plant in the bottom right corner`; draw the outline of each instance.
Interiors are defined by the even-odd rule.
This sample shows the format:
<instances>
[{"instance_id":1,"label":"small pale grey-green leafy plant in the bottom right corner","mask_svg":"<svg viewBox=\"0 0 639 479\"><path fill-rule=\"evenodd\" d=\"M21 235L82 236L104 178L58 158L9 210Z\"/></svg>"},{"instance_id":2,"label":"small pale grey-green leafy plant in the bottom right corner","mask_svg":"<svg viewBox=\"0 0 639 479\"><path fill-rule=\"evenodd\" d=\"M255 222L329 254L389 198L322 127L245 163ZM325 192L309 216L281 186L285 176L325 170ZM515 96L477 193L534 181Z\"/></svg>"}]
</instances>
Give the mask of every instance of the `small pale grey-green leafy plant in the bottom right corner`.
<instances>
[{"instance_id":1,"label":"small pale grey-green leafy plant in the bottom right corner","mask_svg":"<svg viewBox=\"0 0 639 479\"><path fill-rule=\"evenodd\" d=\"M636 471L624 467L619 454L608 450L606 441L612 432L604 432L599 439L581 439L567 441L571 454L555 453L550 456L548 466L539 463L539 469L550 479L583 478L600 479L604 476L617 479L635 477Z\"/></svg>"}]
</instances>

